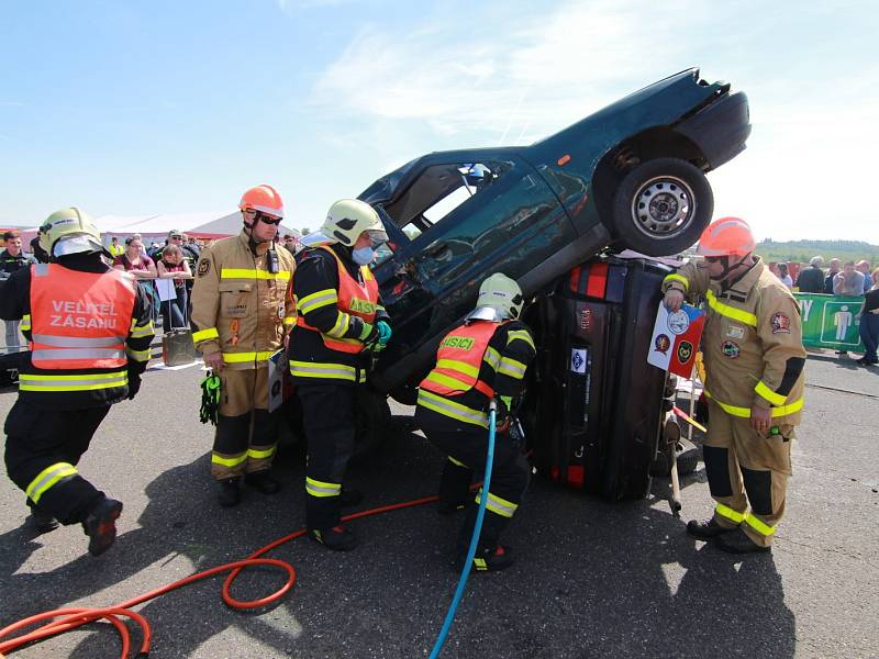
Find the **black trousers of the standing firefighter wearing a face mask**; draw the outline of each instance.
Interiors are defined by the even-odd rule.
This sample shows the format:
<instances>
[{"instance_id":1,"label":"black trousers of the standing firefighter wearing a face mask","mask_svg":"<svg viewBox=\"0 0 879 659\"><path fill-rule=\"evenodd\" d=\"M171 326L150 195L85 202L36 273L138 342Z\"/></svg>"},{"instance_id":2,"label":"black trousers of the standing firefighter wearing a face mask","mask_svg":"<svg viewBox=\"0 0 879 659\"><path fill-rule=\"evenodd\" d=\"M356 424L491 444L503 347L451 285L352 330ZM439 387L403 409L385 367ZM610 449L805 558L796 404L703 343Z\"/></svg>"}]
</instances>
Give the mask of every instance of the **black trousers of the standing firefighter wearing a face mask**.
<instances>
[{"instance_id":1,"label":"black trousers of the standing firefighter wearing a face mask","mask_svg":"<svg viewBox=\"0 0 879 659\"><path fill-rule=\"evenodd\" d=\"M308 443L305 524L332 528L340 523L342 481L354 453L357 391L343 384L298 384L297 395Z\"/></svg>"}]
</instances>

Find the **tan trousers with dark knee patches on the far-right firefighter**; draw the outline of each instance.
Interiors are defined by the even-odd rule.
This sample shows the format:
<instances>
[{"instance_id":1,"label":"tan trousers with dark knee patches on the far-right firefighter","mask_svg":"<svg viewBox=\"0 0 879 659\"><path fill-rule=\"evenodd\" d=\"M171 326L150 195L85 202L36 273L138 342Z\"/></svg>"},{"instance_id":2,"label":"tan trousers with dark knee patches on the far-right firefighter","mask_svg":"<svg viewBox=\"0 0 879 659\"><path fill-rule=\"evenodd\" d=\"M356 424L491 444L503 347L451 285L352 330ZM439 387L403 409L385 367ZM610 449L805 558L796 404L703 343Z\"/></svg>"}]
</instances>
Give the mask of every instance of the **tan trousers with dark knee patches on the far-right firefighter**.
<instances>
[{"instance_id":1,"label":"tan trousers with dark knee patches on the far-right firefighter","mask_svg":"<svg viewBox=\"0 0 879 659\"><path fill-rule=\"evenodd\" d=\"M741 526L760 547L772 544L785 515L791 473L793 426L778 428L777 435L760 435L750 427L750 420L732 416L709 401L709 431L702 453L711 496L716 502L714 520L726 528Z\"/></svg>"}]
</instances>

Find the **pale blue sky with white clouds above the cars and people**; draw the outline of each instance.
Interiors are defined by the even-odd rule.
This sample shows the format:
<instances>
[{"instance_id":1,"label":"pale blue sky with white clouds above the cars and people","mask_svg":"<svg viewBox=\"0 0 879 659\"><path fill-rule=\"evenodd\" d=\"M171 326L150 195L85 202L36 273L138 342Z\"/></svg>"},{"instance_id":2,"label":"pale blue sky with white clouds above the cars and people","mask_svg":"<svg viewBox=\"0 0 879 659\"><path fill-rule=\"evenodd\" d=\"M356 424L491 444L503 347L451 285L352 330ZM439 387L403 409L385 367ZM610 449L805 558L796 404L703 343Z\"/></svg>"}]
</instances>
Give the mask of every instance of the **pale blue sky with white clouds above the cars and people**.
<instances>
[{"instance_id":1,"label":"pale blue sky with white clouds above the cars and people","mask_svg":"<svg viewBox=\"0 0 879 659\"><path fill-rule=\"evenodd\" d=\"M419 155L530 144L699 67L750 104L716 217L879 244L872 0L0 0L0 225L267 182L313 230Z\"/></svg>"}]
</instances>

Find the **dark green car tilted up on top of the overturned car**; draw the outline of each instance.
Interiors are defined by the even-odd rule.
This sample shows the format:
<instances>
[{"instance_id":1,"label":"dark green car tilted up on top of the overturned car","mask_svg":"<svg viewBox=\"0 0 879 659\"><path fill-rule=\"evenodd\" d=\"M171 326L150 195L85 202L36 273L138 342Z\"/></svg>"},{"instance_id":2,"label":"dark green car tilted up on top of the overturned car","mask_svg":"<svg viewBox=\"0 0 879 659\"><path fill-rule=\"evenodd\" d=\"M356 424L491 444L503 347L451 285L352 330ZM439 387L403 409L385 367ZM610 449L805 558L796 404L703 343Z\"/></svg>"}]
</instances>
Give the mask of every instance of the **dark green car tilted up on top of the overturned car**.
<instances>
[{"instance_id":1,"label":"dark green car tilted up on top of the overturned car","mask_svg":"<svg viewBox=\"0 0 879 659\"><path fill-rule=\"evenodd\" d=\"M433 153L377 180L359 198L387 227L375 273L394 333L372 386L411 403L491 272L530 297L609 246L690 247L712 215L705 172L749 133L747 97L689 69L531 146Z\"/></svg>"}]
</instances>

